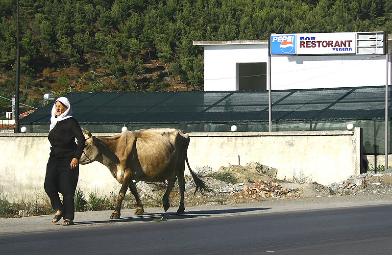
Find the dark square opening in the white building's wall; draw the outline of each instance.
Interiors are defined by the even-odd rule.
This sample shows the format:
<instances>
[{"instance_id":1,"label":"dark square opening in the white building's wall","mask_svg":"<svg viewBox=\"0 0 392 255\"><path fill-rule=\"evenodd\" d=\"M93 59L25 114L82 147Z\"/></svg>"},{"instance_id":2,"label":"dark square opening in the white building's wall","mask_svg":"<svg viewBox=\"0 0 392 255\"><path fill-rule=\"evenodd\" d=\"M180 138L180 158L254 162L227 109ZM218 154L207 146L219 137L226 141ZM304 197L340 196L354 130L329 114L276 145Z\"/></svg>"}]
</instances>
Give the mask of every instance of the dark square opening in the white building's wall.
<instances>
[{"instance_id":1,"label":"dark square opening in the white building's wall","mask_svg":"<svg viewBox=\"0 0 392 255\"><path fill-rule=\"evenodd\" d=\"M238 90L267 90L267 63L237 63Z\"/></svg>"}]
</instances>

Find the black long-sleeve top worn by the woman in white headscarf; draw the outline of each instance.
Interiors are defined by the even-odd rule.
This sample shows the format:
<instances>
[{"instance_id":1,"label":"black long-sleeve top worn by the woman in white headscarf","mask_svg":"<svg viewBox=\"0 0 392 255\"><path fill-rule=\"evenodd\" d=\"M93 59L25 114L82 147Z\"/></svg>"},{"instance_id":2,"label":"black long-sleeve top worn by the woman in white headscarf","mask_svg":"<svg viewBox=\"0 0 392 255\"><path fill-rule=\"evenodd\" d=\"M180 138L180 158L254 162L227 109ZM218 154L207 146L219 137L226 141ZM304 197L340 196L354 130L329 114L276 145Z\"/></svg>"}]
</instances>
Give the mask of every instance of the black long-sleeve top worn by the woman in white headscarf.
<instances>
[{"instance_id":1,"label":"black long-sleeve top worn by the woman in white headscarf","mask_svg":"<svg viewBox=\"0 0 392 255\"><path fill-rule=\"evenodd\" d=\"M86 142L79 123L73 117L57 122L50 130L48 139L51 145L50 156L73 156L77 160L80 159Z\"/></svg>"}]
</instances>

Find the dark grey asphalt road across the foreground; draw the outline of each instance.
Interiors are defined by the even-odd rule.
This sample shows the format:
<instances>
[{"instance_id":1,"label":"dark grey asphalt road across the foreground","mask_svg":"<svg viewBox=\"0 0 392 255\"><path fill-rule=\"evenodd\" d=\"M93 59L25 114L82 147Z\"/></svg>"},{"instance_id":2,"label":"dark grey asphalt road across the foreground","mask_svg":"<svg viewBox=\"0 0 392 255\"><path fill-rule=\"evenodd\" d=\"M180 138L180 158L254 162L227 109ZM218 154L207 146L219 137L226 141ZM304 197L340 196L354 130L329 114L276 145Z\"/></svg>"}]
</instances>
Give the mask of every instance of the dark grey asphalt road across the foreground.
<instances>
[{"instance_id":1,"label":"dark grey asphalt road across the foreground","mask_svg":"<svg viewBox=\"0 0 392 255\"><path fill-rule=\"evenodd\" d=\"M94 228L57 226L61 230L2 234L0 254L392 253L392 204L273 213L268 210L270 207L229 209L215 212L214 217L207 217L214 212L206 210L199 211L197 217L181 219L162 213L168 221L151 222L145 218L132 222L125 218L113 225L99 222Z\"/></svg>"}]
</instances>

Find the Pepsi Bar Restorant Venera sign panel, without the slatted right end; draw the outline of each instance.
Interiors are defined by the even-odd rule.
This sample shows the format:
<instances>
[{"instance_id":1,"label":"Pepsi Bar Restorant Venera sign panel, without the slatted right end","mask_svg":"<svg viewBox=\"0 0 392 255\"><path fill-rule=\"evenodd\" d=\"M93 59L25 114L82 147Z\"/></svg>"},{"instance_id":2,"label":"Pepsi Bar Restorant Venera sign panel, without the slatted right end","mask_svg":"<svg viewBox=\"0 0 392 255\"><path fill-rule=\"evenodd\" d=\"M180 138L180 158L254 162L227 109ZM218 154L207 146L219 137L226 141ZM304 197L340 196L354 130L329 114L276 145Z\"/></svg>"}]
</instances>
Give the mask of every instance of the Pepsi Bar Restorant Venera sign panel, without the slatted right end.
<instances>
[{"instance_id":1,"label":"Pepsi Bar Restorant Venera sign panel, without the slatted right end","mask_svg":"<svg viewBox=\"0 0 392 255\"><path fill-rule=\"evenodd\" d=\"M356 54L356 33L271 34L271 55Z\"/></svg>"}]
</instances>

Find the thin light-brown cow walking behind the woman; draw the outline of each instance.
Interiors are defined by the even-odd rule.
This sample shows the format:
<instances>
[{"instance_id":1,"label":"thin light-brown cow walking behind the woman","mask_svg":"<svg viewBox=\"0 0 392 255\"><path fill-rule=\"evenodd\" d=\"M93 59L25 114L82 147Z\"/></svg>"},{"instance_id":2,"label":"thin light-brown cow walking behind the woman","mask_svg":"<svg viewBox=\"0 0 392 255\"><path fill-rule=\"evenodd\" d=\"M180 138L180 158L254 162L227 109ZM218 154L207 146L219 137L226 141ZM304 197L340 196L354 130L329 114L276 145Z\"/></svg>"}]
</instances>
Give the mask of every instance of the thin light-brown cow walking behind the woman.
<instances>
[{"instance_id":1,"label":"thin light-brown cow walking behind the woman","mask_svg":"<svg viewBox=\"0 0 392 255\"><path fill-rule=\"evenodd\" d=\"M181 194L177 214L184 214L185 162L196 183L196 190L205 189L204 182L192 172L187 156L189 136L174 128L151 128L135 131L123 131L111 137L95 137L88 130L82 129L86 138L80 164L98 161L109 168L110 173L121 186L116 209L110 219L120 218L121 203L126 190L136 199L135 215L143 214L143 204L139 198L133 179L148 182L168 181L168 187L162 198L163 208L170 207L169 194L178 179Z\"/></svg>"}]
</instances>

